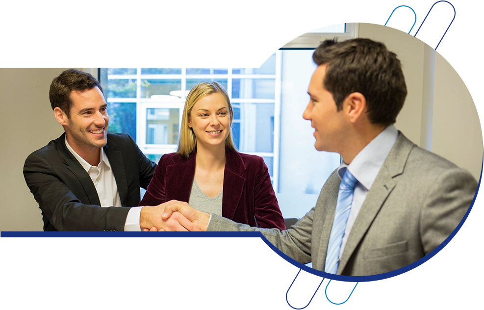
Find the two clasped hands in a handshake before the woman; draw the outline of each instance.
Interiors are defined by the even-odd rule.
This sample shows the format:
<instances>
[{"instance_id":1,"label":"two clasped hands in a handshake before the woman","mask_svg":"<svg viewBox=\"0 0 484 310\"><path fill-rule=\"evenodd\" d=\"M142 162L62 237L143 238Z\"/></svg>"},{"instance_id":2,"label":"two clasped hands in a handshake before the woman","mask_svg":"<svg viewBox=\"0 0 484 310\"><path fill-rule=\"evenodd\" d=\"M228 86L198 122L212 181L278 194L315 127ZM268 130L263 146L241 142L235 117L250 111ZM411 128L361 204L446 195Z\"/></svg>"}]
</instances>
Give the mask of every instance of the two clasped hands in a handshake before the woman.
<instances>
[{"instance_id":1,"label":"two clasped hands in a handshake before the woman","mask_svg":"<svg viewBox=\"0 0 484 310\"><path fill-rule=\"evenodd\" d=\"M185 202L171 200L141 209L139 224L144 232L204 232L210 214L198 211Z\"/></svg>"}]
</instances>

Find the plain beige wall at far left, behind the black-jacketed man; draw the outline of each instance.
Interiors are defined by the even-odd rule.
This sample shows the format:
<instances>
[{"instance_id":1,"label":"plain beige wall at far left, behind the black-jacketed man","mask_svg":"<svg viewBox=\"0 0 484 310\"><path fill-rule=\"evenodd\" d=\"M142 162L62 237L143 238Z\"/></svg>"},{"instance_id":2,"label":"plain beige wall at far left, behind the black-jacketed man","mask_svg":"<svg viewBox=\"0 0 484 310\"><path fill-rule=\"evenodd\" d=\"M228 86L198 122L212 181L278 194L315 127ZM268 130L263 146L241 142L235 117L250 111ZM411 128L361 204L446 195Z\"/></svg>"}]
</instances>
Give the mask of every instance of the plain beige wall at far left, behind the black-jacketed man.
<instances>
[{"instance_id":1,"label":"plain beige wall at far left, behind the black-jacketed man","mask_svg":"<svg viewBox=\"0 0 484 310\"><path fill-rule=\"evenodd\" d=\"M30 153L64 132L54 119L49 87L65 69L0 68L0 231L42 230L41 212L22 169Z\"/></svg>"}]
</instances>

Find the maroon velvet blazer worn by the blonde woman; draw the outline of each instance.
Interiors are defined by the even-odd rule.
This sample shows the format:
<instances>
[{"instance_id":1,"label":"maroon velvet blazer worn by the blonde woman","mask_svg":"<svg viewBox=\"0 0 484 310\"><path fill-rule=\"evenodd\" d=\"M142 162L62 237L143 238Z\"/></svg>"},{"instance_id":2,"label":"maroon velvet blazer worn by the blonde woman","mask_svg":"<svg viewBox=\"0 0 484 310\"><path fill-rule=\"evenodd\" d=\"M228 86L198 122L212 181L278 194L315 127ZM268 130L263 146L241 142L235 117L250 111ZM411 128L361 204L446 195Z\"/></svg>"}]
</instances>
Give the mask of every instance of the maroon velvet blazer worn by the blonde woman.
<instances>
[{"instance_id":1,"label":"maroon velvet blazer worn by the blonde woman","mask_svg":"<svg viewBox=\"0 0 484 310\"><path fill-rule=\"evenodd\" d=\"M264 159L226 149L222 216L234 222L285 230ZM188 202L195 176L195 154L161 157L139 206L157 206L172 199Z\"/></svg>"}]
</instances>

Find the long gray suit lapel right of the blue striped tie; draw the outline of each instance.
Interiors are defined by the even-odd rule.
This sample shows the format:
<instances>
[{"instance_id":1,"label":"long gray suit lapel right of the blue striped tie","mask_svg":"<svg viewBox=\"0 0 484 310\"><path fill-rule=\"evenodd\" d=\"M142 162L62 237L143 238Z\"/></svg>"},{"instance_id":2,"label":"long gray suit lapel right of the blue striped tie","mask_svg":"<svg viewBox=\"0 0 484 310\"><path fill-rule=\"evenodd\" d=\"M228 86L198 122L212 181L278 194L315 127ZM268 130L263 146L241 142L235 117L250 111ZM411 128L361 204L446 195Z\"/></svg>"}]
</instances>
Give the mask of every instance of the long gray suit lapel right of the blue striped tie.
<instances>
[{"instance_id":1,"label":"long gray suit lapel right of the blue striped tie","mask_svg":"<svg viewBox=\"0 0 484 310\"><path fill-rule=\"evenodd\" d=\"M343 272L346 264L355 252L355 249L384 205L388 195L392 192L395 186L397 186L397 183L393 180L393 178L403 173L408 155L410 154L413 146L414 144L400 132L395 145L386 157L385 162L377 175L377 178L373 182L373 185L368 191L365 201L359 210L355 224L351 229L350 235L348 236L348 241L346 242L345 249L339 261L337 271L338 275Z\"/></svg>"}]
</instances>

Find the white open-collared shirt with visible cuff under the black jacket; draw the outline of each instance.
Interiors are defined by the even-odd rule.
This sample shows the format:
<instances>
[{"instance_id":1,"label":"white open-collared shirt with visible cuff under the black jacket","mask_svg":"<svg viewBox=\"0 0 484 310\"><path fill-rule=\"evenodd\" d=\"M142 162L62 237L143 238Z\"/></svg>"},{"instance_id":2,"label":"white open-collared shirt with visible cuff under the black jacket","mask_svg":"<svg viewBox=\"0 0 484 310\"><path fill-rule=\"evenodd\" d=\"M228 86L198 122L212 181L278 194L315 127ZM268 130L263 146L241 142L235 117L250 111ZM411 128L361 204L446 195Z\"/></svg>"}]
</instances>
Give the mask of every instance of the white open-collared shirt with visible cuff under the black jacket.
<instances>
[{"instance_id":1,"label":"white open-collared shirt with visible cuff under the black jacket","mask_svg":"<svg viewBox=\"0 0 484 310\"><path fill-rule=\"evenodd\" d=\"M121 207L118 185L116 184L109 159L104 155L104 150L101 148L99 164L92 166L72 149L69 143L67 143L67 138L64 138L64 141L69 152L77 159L91 178L94 187L96 187L101 207ZM139 226L140 213L141 207L129 209L125 222L125 231L141 231Z\"/></svg>"}]
</instances>

